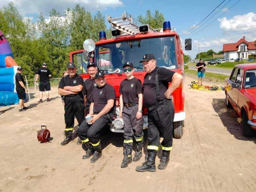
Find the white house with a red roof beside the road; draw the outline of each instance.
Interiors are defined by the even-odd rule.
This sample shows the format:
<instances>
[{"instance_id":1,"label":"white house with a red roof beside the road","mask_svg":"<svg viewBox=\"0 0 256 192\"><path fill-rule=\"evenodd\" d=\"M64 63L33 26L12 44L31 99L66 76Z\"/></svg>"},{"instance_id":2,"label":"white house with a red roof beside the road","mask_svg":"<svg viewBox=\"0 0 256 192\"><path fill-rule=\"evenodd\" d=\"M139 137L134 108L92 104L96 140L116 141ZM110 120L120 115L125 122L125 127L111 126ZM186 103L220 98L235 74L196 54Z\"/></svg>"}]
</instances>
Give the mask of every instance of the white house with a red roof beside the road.
<instances>
[{"instance_id":1,"label":"white house with a red roof beside the road","mask_svg":"<svg viewBox=\"0 0 256 192\"><path fill-rule=\"evenodd\" d=\"M242 58L248 59L248 55L256 53L256 46L254 41L246 41L245 37L236 43L223 44L224 59L228 58Z\"/></svg>"}]
</instances>

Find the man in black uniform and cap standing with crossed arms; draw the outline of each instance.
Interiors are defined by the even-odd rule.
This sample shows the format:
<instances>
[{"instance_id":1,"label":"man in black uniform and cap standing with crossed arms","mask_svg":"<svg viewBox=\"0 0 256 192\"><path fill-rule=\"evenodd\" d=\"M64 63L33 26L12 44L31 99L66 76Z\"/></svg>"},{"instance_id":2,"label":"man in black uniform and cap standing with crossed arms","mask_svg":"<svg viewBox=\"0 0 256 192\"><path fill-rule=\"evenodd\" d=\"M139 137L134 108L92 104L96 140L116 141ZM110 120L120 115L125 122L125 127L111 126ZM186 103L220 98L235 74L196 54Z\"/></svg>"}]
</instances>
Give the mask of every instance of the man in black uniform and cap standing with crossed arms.
<instances>
[{"instance_id":1,"label":"man in black uniform and cap standing with crossed arms","mask_svg":"<svg viewBox=\"0 0 256 192\"><path fill-rule=\"evenodd\" d=\"M72 140L74 118L78 126L84 120L85 104L82 97L83 78L76 73L75 64L69 62L67 65L68 75L61 78L58 94L64 95L65 110L65 139L60 145L64 146Z\"/></svg>"}]
</instances>

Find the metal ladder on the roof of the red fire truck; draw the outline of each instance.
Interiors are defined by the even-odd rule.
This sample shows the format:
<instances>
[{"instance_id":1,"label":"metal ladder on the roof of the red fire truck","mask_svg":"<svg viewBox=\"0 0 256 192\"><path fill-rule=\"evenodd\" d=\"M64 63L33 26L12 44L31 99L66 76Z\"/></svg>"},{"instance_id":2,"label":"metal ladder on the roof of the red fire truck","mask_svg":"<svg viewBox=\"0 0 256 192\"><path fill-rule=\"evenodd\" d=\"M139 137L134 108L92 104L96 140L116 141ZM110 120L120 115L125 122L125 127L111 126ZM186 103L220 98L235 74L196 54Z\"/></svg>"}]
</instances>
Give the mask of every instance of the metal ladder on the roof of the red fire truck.
<instances>
[{"instance_id":1,"label":"metal ladder on the roof of the red fire truck","mask_svg":"<svg viewBox=\"0 0 256 192\"><path fill-rule=\"evenodd\" d=\"M157 32L149 24L142 24L137 19L133 18L132 15L128 14L126 11L122 14L122 17L112 18L107 15L107 21L111 24L111 27L117 29L123 33L127 33L129 35L134 35L139 32L140 26L147 25L149 28L149 32Z\"/></svg>"}]
</instances>

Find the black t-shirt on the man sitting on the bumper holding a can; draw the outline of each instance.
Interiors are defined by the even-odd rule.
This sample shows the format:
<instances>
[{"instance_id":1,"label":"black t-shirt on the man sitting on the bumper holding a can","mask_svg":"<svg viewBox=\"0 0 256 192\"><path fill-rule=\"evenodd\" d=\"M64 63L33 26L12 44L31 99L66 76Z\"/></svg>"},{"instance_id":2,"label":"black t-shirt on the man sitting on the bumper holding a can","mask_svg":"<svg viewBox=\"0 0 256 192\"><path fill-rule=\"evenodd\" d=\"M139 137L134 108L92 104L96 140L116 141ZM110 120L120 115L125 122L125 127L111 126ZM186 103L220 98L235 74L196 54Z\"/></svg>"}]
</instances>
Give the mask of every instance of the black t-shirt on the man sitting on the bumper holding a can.
<instances>
[{"instance_id":1,"label":"black t-shirt on the man sitting on the bumper holding a can","mask_svg":"<svg viewBox=\"0 0 256 192\"><path fill-rule=\"evenodd\" d=\"M109 84L106 84L104 87L95 87L92 92L92 102L94 103L93 113L98 114L105 105L107 105L107 101L110 99L114 100L114 106L108 113L115 112L116 91L114 87Z\"/></svg>"}]
</instances>

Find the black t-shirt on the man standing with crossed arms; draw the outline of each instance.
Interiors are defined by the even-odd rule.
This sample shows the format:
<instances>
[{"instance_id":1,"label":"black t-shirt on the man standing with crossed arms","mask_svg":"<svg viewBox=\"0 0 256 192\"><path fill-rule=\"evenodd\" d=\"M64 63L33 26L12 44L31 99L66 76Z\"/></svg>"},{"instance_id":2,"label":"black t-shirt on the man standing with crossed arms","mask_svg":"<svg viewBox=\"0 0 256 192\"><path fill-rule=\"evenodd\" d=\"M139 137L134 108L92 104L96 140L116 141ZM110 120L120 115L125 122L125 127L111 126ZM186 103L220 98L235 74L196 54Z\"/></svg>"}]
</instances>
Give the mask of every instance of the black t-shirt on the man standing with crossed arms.
<instances>
[{"instance_id":1,"label":"black t-shirt on the man standing with crossed arms","mask_svg":"<svg viewBox=\"0 0 256 192\"><path fill-rule=\"evenodd\" d=\"M67 76L61 78L58 88L63 89L65 86L77 86L77 85L83 85L83 84L84 84L84 80L78 74L75 74L74 77L69 77L69 75L67 75ZM80 95L82 97L82 91L80 91L76 95ZM70 95L65 95L65 97L74 97L76 95L70 94Z\"/></svg>"}]
</instances>

